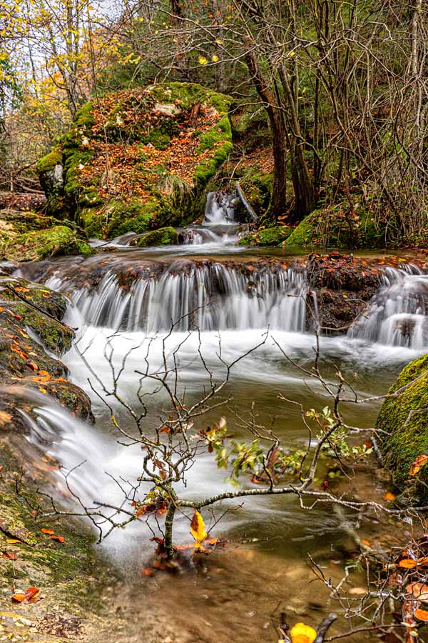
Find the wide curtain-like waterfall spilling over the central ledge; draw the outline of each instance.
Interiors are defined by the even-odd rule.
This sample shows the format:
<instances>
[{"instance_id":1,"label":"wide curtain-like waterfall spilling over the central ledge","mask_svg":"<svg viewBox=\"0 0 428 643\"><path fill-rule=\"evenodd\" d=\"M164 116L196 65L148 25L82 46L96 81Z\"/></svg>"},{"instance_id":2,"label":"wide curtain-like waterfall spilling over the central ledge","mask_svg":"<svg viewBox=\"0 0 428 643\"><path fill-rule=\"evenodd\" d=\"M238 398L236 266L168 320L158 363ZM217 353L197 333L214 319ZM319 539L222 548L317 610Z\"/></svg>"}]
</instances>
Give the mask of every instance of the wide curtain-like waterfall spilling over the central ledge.
<instances>
[{"instance_id":1,"label":"wide curtain-like waterfall spilling over the central ledge","mask_svg":"<svg viewBox=\"0 0 428 643\"><path fill-rule=\"evenodd\" d=\"M271 329L305 332L307 280L291 268L248 271L220 263L175 262L159 276L139 276L123 288L109 270L95 289L70 289L58 276L47 281L65 290L83 320L98 327L158 332Z\"/></svg>"}]
</instances>

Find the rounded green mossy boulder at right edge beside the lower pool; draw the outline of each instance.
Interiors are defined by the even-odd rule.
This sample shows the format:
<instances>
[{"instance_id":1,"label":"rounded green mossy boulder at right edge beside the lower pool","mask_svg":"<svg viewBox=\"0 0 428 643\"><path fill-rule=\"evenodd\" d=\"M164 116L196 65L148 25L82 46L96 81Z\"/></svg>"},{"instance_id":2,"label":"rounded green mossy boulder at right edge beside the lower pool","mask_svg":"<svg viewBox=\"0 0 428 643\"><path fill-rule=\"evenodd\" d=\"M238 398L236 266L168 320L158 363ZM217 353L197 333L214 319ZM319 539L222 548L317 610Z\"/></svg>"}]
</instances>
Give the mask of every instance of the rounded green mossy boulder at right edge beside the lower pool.
<instances>
[{"instance_id":1,"label":"rounded green mossy boulder at right edge beside the lower pool","mask_svg":"<svg viewBox=\"0 0 428 643\"><path fill-rule=\"evenodd\" d=\"M406 387L406 388L403 388ZM428 456L428 354L407 364L382 404L376 422L385 466L402 501L428 504L428 464L410 474L418 456Z\"/></svg>"}]
</instances>

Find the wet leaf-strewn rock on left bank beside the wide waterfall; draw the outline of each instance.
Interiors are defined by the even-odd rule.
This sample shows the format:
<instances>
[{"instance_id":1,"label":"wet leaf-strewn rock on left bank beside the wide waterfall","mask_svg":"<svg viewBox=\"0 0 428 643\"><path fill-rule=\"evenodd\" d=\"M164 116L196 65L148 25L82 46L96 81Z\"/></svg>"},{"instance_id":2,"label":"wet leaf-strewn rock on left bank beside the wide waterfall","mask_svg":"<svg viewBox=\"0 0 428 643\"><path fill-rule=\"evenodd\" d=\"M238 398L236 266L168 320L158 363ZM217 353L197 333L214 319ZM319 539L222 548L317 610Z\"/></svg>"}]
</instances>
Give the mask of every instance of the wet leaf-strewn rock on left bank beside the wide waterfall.
<instances>
[{"instance_id":1,"label":"wet leaf-strewn rock on left bank beside the wide waterfall","mask_svg":"<svg viewBox=\"0 0 428 643\"><path fill-rule=\"evenodd\" d=\"M12 277L0 279L0 386L19 384L51 394L63 407L92 421L88 396L68 382L67 367L52 357L70 349L74 338L73 329L61 321L66 306L66 298L46 286ZM24 430L8 394L0 396L1 413L3 430Z\"/></svg>"}]
</instances>

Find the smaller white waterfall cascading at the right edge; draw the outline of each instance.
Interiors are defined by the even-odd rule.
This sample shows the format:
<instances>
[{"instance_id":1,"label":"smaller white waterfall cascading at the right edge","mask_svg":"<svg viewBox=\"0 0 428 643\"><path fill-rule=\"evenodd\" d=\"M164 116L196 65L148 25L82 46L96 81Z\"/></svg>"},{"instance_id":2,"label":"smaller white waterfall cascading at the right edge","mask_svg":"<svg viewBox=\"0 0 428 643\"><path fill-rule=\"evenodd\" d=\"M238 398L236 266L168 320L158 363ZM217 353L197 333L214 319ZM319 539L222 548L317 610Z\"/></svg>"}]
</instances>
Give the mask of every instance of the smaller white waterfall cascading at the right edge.
<instances>
[{"instance_id":1,"label":"smaller white waterfall cascading at the right edge","mask_svg":"<svg viewBox=\"0 0 428 643\"><path fill-rule=\"evenodd\" d=\"M347 335L365 342L422 350L428 345L428 275L414 264L388 267L367 311Z\"/></svg>"}]
</instances>

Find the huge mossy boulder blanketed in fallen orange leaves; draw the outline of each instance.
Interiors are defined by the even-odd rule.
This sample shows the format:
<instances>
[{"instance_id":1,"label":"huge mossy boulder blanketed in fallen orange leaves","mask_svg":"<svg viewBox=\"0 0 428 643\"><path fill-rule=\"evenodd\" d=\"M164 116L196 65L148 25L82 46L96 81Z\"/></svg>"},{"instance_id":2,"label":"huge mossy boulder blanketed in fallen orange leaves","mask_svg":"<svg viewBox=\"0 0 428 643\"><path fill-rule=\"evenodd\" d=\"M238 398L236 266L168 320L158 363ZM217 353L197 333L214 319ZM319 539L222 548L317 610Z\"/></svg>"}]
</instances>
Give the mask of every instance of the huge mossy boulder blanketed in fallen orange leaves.
<instances>
[{"instance_id":1,"label":"huge mossy boulder blanketed in fallen orange leaves","mask_svg":"<svg viewBox=\"0 0 428 643\"><path fill-rule=\"evenodd\" d=\"M39 161L49 201L59 190L68 216L103 238L193 221L202 214L198 196L233 148L231 104L198 84L171 82L84 105Z\"/></svg>"}]
</instances>

